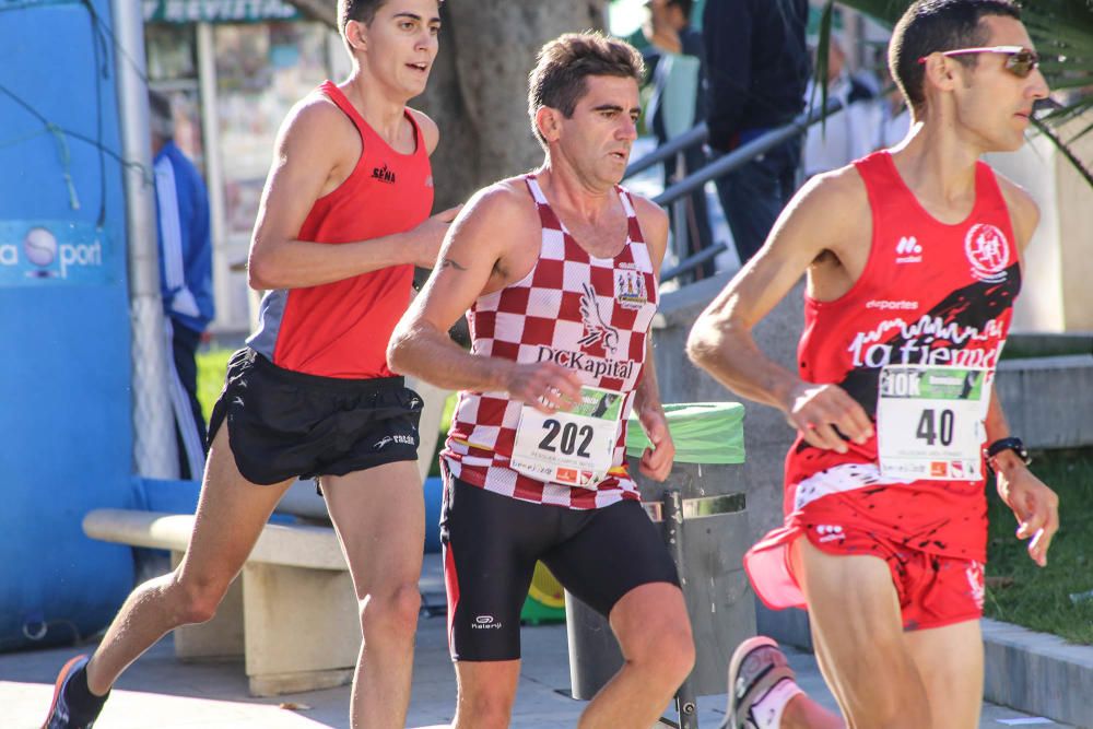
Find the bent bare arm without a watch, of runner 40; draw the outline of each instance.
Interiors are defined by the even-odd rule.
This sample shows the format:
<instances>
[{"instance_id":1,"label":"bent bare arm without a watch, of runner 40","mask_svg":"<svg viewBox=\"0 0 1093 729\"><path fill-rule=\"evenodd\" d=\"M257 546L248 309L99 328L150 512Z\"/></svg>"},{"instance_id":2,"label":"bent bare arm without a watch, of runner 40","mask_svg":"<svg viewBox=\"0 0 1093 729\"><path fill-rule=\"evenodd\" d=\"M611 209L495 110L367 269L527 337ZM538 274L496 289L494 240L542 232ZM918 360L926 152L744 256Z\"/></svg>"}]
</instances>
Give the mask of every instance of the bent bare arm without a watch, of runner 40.
<instances>
[{"instance_id":1,"label":"bent bare arm without a watch, of runner 40","mask_svg":"<svg viewBox=\"0 0 1093 729\"><path fill-rule=\"evenodd\" d=\"M860 236L869 209L857 172L812 178L775 222L766 244L695 321L687 355L734 392L778 408L809 444L839 452L872 435L865 410L842 388L803 381L767 357L752 330L825 250Z\"/></svg>"}]
</instances>

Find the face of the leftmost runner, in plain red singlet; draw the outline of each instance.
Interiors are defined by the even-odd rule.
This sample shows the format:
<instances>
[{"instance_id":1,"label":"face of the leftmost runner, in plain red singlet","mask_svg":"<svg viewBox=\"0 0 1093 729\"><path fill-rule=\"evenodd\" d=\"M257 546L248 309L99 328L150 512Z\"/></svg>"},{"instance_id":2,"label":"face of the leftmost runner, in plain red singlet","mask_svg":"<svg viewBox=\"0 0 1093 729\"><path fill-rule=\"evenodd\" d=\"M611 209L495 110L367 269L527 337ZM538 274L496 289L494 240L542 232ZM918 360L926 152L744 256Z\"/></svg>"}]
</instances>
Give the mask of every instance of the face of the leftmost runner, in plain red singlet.
<instances>
[{"instance_id":1,"label":"face of the leftmost runner, in plain red singlet","mask_svg":"<svg viewBox=\"0 0 1093 729\"><path fill-rule=\"evenodd\" d=\"M425 91L440 32L437 0L387 0L371 25L351 24L346 35L373 78L407 99Z\"/></svg>"}]
</instances>

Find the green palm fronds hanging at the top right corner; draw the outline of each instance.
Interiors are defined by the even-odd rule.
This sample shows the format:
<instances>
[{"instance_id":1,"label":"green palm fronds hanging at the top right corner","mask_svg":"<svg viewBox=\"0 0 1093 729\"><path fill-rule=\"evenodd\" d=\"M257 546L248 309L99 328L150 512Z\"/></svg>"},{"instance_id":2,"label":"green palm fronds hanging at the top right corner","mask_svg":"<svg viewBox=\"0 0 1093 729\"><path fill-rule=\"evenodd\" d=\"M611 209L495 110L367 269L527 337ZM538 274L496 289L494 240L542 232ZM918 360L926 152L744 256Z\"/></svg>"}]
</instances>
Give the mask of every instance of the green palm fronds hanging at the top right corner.
<instances>
[{"instance_id":1,"label":"green palm fronds hanging at the top right corner","mask_svg":"<svg viewBox=\"0 0 1093 729\"><path fill-rule=\"evenodd\" d=\"M839 0L839 5L857 10L877 22L892 26L909 4L907 0ZM827 78L827 45L831 38L835 0L827 0L820 20L816 79ZM1063 124L1093 108L1093 0L1030 0L1021 16L1036 49L1043 57L1041 69L1058 106L1034 118L1033 125L1048 137L1093 187L1093 172L1070 149L1070 143L1093 130L1086 125L1062 139ZM827 102L826 84L821 86L821 104Z\"/></svg>"}]
</instances>

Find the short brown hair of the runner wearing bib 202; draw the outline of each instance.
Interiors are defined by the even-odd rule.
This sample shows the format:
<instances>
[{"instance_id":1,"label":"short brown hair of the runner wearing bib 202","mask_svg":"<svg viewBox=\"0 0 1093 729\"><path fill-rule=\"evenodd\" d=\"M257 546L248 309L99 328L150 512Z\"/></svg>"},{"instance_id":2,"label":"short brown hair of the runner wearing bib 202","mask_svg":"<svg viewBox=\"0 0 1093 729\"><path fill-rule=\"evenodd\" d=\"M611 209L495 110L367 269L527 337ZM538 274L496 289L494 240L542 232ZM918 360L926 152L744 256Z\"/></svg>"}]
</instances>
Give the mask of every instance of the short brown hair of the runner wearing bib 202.
<instances>
[{"instance_id":1,"label":"short brown hair of the runner wearing bib 202","mask_svg":"<svg viewBox=\"0 0 1093 729\"><path fill-rule=\"evenodd\" d=\"M642 83L645 61L642 54L625 40L610 38L599 31L566 33L544 45L528 74L528 115L531 129L545 146L536 114L546 106L569 118L585 95L585 79L611 75Z\"/></svg>"}]
</instances>

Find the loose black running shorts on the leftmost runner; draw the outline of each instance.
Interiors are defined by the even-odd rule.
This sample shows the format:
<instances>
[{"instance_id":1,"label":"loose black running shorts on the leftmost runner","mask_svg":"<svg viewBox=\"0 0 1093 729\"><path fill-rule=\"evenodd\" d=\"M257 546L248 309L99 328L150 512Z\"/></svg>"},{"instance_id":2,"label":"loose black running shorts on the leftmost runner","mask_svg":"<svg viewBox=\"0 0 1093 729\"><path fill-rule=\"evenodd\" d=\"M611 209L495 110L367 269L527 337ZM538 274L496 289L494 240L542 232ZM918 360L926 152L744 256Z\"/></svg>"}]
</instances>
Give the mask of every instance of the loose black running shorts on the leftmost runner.
<instances>
[{"instance_id":1,"label":"loose black running shorts on the leftmost runner","mask_svg":"<svg viewBox=\"0 0 1093 729\"><path fill-rule=\"evenodd\" d=\"M228 361L209 443L226 420L235 463L252 483L345 475L418 460L421 408L401 377L318 377L244 348Z\"/></svg>"}]
</instances>

